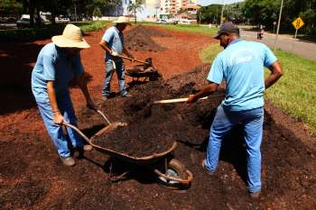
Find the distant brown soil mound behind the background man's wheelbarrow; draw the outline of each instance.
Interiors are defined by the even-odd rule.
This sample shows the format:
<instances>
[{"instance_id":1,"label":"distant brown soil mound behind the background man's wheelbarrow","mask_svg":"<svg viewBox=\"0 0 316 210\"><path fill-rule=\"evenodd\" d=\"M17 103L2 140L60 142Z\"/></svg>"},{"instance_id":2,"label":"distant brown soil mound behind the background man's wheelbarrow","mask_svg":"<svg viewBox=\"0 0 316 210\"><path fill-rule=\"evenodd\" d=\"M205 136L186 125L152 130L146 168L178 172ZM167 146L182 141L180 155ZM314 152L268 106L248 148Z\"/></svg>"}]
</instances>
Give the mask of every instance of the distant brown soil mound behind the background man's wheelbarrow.
<instances>
[{"instance_id":1,"label":"distant brown soil mound behind the background man's wheelbarrow","mask_svg":"<svg viewBox=\"0 0 316 210\"><path fill-rule=\"evenodd\" d=\"M125 33L125 47L128 50L135 51L147 50L156 52L164 50L162 46L153 41L152 36L166 36L166 33L153 27L136 26Z\"/></svg>"}]
</instances>

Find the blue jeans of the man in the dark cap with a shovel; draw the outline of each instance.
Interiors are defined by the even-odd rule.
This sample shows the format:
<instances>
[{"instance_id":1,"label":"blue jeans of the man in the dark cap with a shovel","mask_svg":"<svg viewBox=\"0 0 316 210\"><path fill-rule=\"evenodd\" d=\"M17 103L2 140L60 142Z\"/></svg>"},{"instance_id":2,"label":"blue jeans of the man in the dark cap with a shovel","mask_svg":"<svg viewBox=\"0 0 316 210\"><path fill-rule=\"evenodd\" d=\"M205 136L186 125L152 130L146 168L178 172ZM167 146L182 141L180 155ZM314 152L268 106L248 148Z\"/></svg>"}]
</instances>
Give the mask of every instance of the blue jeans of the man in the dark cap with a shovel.
<instances>
[{"instance_id":1,"label":"blue jeans of the man in the dark cap with a shovel","mask_svg":"<svg viewBox=\"0 0 316 210\"><path fill-rule=\"evenodd\" d=\"M246 111L232 112L218 106L217 114L209 132L206 167L214 172L218 166L221 142L229 130L237 123L242 123L247 154L247 185L249 192L261 189L261 152L263 136L264 107Z\"/></svg>"}]
</instances>

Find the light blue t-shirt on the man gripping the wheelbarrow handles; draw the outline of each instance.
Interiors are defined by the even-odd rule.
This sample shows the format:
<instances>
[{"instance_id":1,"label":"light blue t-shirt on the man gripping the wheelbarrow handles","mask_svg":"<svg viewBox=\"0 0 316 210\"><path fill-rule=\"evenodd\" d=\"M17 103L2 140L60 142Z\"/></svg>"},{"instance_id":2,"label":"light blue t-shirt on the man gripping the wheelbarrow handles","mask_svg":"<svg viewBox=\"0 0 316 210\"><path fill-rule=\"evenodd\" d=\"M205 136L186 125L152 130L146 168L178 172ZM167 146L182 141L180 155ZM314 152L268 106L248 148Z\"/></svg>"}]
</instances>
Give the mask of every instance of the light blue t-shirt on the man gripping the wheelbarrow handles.
<instances>
[{"instance_id":1,"label":"light blue t-shirt on the man gripping the wheelbarrow handles","mask_svg":"<svg viewBox=\"0 0 316 210\"><path fill-rule=\"evenodd\" d=\"M83 72L80 55L69 58L65 50L46 44L37 57L32 72L32 90L36 101L47 100L47 81L54 81L56 96L69 91L70 79Z\"/></svg>"}]
</instances>

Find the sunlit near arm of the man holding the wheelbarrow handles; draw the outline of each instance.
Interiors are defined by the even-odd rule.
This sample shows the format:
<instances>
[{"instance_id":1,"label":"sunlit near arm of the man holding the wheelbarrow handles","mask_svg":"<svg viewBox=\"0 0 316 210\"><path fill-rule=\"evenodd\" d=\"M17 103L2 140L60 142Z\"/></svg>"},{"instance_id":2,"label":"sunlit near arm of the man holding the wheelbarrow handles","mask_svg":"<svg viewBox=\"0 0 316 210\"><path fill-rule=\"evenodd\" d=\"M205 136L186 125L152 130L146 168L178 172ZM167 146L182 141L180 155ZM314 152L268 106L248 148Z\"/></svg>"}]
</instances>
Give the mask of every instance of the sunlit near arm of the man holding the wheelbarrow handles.
<instances>
[{"instance_id":1,"label":"sunlit near arm of the man holding the wheelbarrow handles","mask_svg":"<svg viewBox=\"0 0 316 210\"><path fill-rule=\"evenodd\" d=\"M63 122L63 116L60 114L60 109L57 105L54 81L47 81L47 94L51 103L52 114L54 115L54 123L60 124Z\"/></svg>"}]
</instances>

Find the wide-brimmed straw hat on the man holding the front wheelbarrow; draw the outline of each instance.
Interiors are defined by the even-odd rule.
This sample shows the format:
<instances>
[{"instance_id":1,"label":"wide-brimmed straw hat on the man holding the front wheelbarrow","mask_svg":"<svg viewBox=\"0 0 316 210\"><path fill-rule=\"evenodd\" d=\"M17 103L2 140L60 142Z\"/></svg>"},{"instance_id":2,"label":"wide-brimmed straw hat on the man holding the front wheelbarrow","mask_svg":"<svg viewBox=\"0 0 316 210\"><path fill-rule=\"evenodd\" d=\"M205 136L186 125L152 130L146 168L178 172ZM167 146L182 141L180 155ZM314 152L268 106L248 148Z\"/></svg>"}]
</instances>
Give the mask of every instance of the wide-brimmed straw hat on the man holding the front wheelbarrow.
<instances>
[{"instance_id":1,"label":"wide-brimmed straw hat on the man holding the front wheelbarrow","mask_svg":"<svg viewBox=\"0 0 316 210\"><path fill-rule=\"evenodd\" d=\"M67 24L62 35L53 36L51 41L60 48L89 48L88 43L82 38L79 27Z\"/></svg>"}]
</instances>

